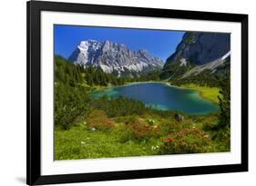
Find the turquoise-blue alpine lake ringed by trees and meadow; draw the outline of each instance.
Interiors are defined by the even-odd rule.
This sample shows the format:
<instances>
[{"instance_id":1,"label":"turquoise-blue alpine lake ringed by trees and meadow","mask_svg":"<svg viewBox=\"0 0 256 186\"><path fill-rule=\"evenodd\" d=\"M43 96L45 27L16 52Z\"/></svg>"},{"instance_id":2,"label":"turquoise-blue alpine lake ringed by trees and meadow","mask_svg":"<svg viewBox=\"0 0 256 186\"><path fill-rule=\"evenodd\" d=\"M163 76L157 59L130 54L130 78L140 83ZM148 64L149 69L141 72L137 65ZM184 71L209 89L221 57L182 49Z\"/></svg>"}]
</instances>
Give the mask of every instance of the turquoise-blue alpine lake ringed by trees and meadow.
<instances>
[{"instance_id":1,"label":"turquoise-blue alpine lake ringed by trees and meadow","mask_svg":"<svg viewBox=\"0 0 256 186\"><path fill-rule=\"evenodd\" d=\"M219 106L200 97L198 91L169 86L166 83L130 83L92 92L94 98L107 95L110 98L123 96L145 103L158 110L172 110L190 114L217 113Z\"/></svg>"}]
</instances>

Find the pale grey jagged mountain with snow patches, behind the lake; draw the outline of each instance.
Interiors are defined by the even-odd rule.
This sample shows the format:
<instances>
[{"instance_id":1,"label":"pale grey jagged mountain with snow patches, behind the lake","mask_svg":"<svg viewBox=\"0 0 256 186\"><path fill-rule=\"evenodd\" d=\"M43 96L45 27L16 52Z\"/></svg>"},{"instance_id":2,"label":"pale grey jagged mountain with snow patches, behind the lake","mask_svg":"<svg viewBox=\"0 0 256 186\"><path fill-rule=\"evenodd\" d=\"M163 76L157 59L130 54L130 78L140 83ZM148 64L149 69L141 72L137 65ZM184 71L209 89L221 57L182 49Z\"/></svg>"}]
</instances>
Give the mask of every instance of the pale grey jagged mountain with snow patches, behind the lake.
<instances>
[{"instance_id":1,"label":"pale grey jagged mountain with snow patches, behind the lake","mask_svg":"<svg viewBox=\"0 0 256 186\"><path fill-rule=\"evenodd\" d=\"M136 74L161 68L163 62L145 50L131 51L125 44L111 41L82 41L68 58L75 64L95 66L105 73Z\"/></svg>"}]
</instances>

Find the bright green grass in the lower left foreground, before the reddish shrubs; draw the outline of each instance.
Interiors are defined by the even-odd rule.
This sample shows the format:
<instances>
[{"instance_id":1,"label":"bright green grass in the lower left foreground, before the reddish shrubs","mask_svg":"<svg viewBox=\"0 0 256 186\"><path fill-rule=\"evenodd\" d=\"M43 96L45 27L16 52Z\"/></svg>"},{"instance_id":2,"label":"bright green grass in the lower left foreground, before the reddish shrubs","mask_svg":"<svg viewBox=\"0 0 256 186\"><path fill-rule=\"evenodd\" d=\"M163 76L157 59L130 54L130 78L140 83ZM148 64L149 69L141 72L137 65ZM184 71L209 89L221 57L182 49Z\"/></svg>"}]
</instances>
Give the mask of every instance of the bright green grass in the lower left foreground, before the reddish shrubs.
<instances>
[{"instance_id":1,"label":"bright green grass in the lower left foreground, before the reddish shrubs","mask_svg":"<svg viewBox=\"0 0 256 186\"><path fill-rule=\"evenodd\" d=\"M72 127L68 131L55 132L56 160L114 158L154 154L151 148L157 141L121 142L121 133L91 131L84 127Z\"/></svg>"}]
</instances>

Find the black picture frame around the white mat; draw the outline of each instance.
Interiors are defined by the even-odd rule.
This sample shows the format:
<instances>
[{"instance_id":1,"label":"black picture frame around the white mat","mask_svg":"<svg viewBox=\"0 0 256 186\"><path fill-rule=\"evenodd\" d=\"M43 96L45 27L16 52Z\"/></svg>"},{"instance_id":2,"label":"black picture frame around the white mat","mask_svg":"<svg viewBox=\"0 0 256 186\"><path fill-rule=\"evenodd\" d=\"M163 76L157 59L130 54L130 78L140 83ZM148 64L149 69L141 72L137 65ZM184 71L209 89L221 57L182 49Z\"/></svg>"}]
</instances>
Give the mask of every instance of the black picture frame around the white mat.
<instances>
[{"instance_id":1,"label":"black picture frame around the white mat","mask_svg":"<svg viewBox=\"0 0 256 186\"><path fill-rule=\"evenodd\" d=\"M27 10L27 150L26 183L28 185L111 181L167 177L220 172L248 171L248 15L125 7L113 5L84 5L30 1ZM101 15L137 15L166 17L189 20L207 20L241 23L241 163L199 167L180 167L139 171L109 171L97 173L78 173L65 175L41 175L41 65L40 28L41 12L72 12Z\"/></svg>"}]
</instances>

